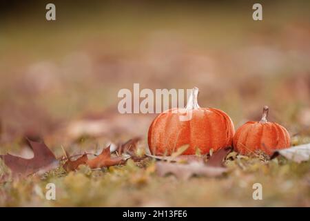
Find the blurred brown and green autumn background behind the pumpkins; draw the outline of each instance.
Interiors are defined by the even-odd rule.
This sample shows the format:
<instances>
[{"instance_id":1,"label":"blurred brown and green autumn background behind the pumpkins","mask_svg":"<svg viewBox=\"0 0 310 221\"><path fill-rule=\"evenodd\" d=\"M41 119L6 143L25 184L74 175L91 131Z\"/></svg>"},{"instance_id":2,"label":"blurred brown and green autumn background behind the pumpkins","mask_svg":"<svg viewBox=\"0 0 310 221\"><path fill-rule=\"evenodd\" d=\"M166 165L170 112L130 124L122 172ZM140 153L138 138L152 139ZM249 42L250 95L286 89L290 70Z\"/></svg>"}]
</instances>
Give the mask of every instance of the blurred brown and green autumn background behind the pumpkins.
<instances>
[{"instance_id":1,"label":"blurred brown and green autumn background behind the pumpkins","mask_svg":"<svg viewBox=\"0 0 310 221\"><path fill-rule=\"evenodd\" d=\"M45 20L50 2L56 21ZM1 152L26 136L50 146L145 139L154 115L117 111L118 90L134 83L197 86L200 106L236 127L268 105L271 121L309 141L310 3L260 1L262 21L254 3L1 1Z\"/></svg>"}]
</instances>

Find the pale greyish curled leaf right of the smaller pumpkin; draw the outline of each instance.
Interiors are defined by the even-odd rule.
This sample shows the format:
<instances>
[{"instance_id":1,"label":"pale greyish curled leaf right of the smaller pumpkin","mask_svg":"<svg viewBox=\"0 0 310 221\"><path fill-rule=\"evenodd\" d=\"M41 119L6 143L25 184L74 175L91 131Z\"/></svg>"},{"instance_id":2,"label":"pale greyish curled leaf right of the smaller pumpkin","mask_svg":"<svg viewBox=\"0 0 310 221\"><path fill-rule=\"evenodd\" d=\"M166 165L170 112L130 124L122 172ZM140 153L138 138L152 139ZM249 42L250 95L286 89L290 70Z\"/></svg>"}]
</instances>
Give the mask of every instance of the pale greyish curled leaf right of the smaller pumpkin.
<instances>
[{"instance_id":1,"label":"pale greyish curled leaf right of the smaller pumpkin","mask_svg":"<svg viewBox=\"0 0 310 221\"><path fill-rule=\"evenodd\" d=\"M302 144L298 146L292 146L291 148L285 148L273 152L271 159L282 155L293 162L304 162L310 160L310 144Z\"/></svg>"}]
</instances>

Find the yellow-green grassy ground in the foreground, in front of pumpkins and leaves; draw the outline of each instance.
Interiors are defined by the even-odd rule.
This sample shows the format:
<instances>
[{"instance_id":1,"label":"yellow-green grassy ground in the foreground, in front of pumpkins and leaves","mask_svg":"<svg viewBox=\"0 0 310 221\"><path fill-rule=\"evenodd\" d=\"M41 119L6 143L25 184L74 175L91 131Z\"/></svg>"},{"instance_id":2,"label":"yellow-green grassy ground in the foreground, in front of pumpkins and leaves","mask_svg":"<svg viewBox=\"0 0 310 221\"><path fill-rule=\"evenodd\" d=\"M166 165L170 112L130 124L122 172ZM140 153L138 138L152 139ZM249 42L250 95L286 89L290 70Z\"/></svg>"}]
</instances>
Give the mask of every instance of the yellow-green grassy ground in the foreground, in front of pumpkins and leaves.
<instances>
[{"instance_id":1,"label":"yellow-green grassy ground in the foreground, in front of pumpkins and leaves","mask_svg":"<svg viewBox=\"0 0 310 221\"><path fill-rule=\"evenodd\" d=\"M1 206L310 206L310 163L283 157L265 162L235 152L225 160L221 177L180 180L160 177L155 160L91 170L62 167L1 184ZM45 186L56 185L56 200L46 200ZM262 200L253 200L254 183L262 184Z\"/></svg>"}]
</instances>

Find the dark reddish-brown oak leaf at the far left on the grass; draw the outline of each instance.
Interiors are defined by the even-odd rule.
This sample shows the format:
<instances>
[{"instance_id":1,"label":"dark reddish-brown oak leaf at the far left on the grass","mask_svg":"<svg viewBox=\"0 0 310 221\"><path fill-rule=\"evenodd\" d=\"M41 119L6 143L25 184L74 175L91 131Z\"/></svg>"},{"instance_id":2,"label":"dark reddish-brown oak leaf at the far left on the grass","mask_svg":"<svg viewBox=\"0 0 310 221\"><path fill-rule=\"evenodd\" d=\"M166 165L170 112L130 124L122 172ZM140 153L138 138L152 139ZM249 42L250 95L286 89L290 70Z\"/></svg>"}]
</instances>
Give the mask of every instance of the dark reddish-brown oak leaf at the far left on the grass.
<instances>
[{"instance_id":1,"label":"dark reddish-brown oak leaf at the far left on the grass","mask_svg":"<svg viewBox=\"0 0 310 221\"><path fill-rule=\"evenodd\" d=\"M34 157L31 159L10 155L9 153L0 155L0 158L12 171L14 176L26 176L36 172L44 173L58 166L59 161L56 160L56 157L48 146L44 143L33 142L31 140L28 140L28 143L34 154Z\"/></svg>"}]
</instances>

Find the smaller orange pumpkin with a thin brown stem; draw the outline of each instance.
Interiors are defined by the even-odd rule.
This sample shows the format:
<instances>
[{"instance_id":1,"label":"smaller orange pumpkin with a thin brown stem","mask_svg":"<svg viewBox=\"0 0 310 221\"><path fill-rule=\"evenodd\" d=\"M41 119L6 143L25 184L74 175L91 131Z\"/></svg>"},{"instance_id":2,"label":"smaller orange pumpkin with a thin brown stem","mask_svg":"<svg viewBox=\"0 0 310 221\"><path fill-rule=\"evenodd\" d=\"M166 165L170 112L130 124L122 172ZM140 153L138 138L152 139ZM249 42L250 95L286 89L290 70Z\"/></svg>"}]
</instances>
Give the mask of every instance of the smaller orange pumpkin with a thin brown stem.
<instances>
[{"instance_id":1,"label":"smaller orange pumpkin with a thin brown stem","mask_svg":"<svg viewBox=\"0 0 310 221\"><path fill-rule=\"evenodd\" d=\"M244 155L255 151L272 155L276 149L291 146L287 129L280 124L267 122L268 111L268 106L264 106L260 122L247 122L238 128L233 141L235 151Z\"/></svg>"}]
</instances>

